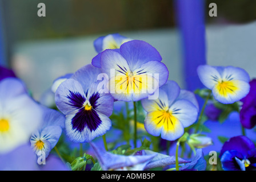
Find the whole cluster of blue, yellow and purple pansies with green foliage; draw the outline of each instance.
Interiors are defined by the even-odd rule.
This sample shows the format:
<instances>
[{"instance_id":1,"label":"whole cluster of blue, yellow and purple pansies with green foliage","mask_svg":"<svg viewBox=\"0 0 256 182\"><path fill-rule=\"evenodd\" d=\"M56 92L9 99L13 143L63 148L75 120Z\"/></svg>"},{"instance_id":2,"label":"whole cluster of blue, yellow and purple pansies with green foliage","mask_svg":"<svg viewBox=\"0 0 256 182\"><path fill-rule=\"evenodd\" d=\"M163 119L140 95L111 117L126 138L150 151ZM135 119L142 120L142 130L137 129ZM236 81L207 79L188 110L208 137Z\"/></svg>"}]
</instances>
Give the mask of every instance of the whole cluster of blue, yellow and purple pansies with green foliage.
<instances>
[{"instance_id":1,"label":"whole cluster of blue, yellow and purple pansies with green foliage","mask_svg":"<svg viewBox=\"0 0 256 182\"><path fill-rule=\"evenodd\" d=\"M110 34L94 47L91 64L58 77L39 102L0 68L1 170L217 169L203 154L214 144L202 134L205 121L237 111L243 131L256 125L256 82L241 68L201 65L206 89L191 92L168 80L149 43ZM245 135L222 137L218 169L256 167L254 141Z\"/></svg>"}]
</instances>

